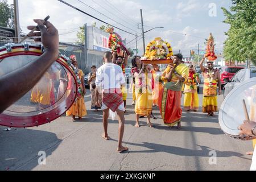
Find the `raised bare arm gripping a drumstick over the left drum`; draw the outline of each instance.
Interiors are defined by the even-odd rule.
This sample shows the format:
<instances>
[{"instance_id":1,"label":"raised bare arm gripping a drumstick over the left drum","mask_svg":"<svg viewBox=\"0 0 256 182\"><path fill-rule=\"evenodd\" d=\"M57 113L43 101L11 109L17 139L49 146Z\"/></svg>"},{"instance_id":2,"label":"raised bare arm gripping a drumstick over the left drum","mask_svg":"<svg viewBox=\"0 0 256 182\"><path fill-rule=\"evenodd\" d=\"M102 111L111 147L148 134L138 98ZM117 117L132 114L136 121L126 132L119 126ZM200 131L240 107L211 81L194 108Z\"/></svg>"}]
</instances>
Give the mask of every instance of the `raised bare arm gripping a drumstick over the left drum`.
<instances>
[{"instance_id":1,"label":"raised bare arm gripping a drumstick over the left drum","mask_svg":"<svg viewBox=\"0 0 256 182\"><path fill-rule=\"evenodd\" d=\"M40 32L34 32L30 36L42 37L35 41L42 40L45 52L32 63L0 77L0 113L30 91L59 56L57 29L49 22L46 22L45 27L44 20L35 19L34 22L38 23ZM28 29L32 30L34 27L28 26Z\"/></svg>"}]
</instances>

